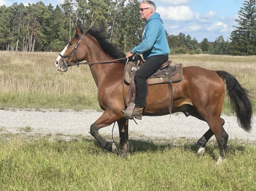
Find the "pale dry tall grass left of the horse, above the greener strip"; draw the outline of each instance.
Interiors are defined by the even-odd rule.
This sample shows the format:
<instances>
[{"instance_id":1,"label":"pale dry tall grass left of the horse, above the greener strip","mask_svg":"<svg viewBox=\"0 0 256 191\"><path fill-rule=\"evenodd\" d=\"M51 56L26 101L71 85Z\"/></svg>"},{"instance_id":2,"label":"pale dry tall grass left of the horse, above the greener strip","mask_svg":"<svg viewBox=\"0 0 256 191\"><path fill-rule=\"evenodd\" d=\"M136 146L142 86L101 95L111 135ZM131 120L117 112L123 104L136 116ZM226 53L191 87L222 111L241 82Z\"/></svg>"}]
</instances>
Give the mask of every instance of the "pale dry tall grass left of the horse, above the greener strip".
<instances>
[{"instance_id":1,"label":"pale dry tall grass left of the horse, above the greener strip","mask_svg":"<svg viewBox=\"0 0 256 191\"><path fill-rule=\"evenodd\" d=\"M1 91L46 94L77 92L84 95L86 92L96 91L88 67L71 69L65 74L57 72L54 65L57 55L57 53L0 52L1 58L4 58L0 68ZM89 75L84 75L85 73ZM92 86L85 87L85 82Z\"/></svg>"}]
</instances>

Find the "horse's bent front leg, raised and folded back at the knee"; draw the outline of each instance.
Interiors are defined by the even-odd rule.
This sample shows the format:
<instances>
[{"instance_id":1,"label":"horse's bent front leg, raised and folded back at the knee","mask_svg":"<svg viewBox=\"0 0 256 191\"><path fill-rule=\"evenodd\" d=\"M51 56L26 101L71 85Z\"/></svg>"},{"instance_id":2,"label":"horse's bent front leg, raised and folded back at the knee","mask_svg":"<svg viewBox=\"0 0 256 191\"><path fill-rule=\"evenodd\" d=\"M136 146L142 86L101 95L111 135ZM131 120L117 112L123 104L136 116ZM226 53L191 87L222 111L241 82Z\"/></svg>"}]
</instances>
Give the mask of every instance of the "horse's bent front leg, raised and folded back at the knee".
<instances>
[{"instance_id":1,"label":"horse's bent front leg, raised and folded back at the knee","mask_svg":"<svg viewBox=\"0 0 256 191\"><path fill-rule=\"evenodd\" d=\"M121 112L120 112L121 113ZM107 149L110 152L117 153L117 147L115 143L106 141L100 134L99 129L109 126L120 119L112 111L107 110L91 125L90 133L98 141L102 148Z\"/></svg>"}]
</instances>

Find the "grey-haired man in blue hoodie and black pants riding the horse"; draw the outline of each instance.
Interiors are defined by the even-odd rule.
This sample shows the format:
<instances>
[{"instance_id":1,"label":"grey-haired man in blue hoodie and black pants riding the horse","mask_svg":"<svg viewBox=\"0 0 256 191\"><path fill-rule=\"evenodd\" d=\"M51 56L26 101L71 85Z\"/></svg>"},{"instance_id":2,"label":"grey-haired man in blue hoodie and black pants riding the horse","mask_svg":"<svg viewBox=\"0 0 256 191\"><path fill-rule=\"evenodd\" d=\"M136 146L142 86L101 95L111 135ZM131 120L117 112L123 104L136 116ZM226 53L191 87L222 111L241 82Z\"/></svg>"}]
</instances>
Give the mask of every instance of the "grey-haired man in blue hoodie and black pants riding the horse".
<instances>
[{"instance_id":1,"label":"grey-haired man in blue hoodie and black pants riding the horse","mask_svg":"<svg viewBox=\"0 0 256 191\"><path fill-rule=\"evenodd\" d=\"M126 58L135 54L143 55L146 60L136 71L134 82L136 86L135 108L132 117L142 119L143 108L146 105L147 79L168 60L169 45L159 13L155 13L156 5L152 1L143 0L140 3L140 16L146 21L142 34L142 42L126 53ZM125 113L125 110L121 110Z\"/></svg>"}]
</instances>

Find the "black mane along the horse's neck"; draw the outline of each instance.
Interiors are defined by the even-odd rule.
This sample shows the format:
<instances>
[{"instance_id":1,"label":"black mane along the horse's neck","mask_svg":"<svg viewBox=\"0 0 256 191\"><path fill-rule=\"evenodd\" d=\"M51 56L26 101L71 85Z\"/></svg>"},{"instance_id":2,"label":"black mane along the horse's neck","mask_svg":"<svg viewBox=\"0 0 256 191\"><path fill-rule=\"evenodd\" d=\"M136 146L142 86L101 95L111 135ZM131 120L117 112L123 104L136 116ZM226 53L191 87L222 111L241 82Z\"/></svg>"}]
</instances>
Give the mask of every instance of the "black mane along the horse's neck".
<instances>
[{"instance_id":1,"label":"black mane along the horse's neck","mask_svg":"<svg viewBox=\"0 0 256 191\"><path fill-rule=\"evenodd\" d=\"M103 28L99 29L97 27L91 27L87 34L93 36L96 38L98 43L100 44L102 50L109 54L114 59L124 58L125 54L117 48L116 45L107 42L108 36L106 35L106 32ZM126 59L121 60L124 64L126 63Z\"/></svg>"}]
</instances>

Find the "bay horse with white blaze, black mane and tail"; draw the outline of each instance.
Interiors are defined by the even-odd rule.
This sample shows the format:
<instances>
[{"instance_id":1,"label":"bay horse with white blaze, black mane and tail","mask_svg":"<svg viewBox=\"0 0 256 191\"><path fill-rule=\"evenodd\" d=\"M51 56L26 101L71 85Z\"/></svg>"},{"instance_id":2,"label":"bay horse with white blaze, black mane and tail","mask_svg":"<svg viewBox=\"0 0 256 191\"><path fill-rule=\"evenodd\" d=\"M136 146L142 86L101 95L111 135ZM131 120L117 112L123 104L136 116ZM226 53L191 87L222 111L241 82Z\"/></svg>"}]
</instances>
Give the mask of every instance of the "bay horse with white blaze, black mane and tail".
<instances>
[{"instance_id":1,"label":"bay horse with white blaze, black mane and tail","mask_svg":"<svg viewBox=\"0 0 256 191\"><path fill-rule=\"evenodd\" d=\"M118 152L115 143L107 142L99 129L118 123L120 153L126 157L128 152L128 123L121 109L125 108L124 95L128 86L123 87L125 54L113 44L107 42L104 31L95 27L87 32L76 27L75 37L62 50L55 61L58 71L65 72L69 66L87 61L93 79L98 87L98 101L103 114L91 125L90 133L100 146L111 152ZM226 84L226 86L225 86ZM251 129L252 104L249 94L237 79L225 71L212 71L201 67L183 68L183 77L176 85L171 113L183 112L208 123L209 130L197 141L197 153L205 152L206 143L215 135L220 151L217 163L226 156L228 134L224 130L221 118L225 90L227 89L233 110L236 112L239 126L245 131ZM226 87L226 88L225 88ZM148 86L148 95L143 115L160 116L170 114L170 93L168 84Z\"/></svg>"}]
</instances>

